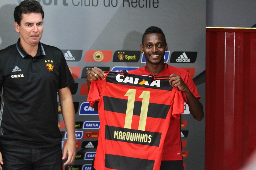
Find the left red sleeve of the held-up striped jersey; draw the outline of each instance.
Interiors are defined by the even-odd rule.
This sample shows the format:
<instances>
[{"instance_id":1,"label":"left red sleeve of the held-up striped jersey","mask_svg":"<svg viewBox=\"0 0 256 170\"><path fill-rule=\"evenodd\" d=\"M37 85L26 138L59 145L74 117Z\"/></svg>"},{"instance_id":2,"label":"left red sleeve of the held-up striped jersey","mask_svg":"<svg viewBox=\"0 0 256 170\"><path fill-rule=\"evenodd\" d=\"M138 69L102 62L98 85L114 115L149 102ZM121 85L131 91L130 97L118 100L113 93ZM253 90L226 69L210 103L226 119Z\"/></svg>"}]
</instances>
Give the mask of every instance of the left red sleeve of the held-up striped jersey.
<instances>
[{"instance_id":1,"label":"left red sleeve of the held-up striped jersey","mask_svg":"<svg viewBox=\"0 0 256 170\"><path fill-rule=\"evenodd\" d=\"M101 96L102 93L101 93L101 90L100 90L99 86L100 86L99 81L94 81L93 80L91 82L89 94L88 94L88 97L87 97L87 102L90 103L90 107L92 107L93 104L96 101L100 100L100 96Z\"/></svg>"}]
</instances>

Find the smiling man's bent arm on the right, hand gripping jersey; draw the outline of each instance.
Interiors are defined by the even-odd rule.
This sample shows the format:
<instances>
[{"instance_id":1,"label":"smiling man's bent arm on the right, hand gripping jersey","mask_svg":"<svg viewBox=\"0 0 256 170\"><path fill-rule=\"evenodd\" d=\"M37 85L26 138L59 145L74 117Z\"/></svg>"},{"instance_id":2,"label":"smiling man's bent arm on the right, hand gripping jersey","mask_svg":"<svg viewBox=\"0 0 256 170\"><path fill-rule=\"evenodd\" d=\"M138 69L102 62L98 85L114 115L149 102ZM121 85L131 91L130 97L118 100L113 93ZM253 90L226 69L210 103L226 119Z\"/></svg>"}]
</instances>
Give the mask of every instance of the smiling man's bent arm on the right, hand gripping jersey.
<instances>
[{"instance_id":1,"label":"smiling man's bent arm on the right, hand gripping jersey","mask_svg":"<svg viewBox=\"0 0 256 170\"><path fill-rule=\"evenodd\" d=\"M169 76L169 83L172 87L178 87L183 91L187 97L187 104L191 115L198 121L201 121L204 117L203 105L202 103L193 95L189 90L188 86L184 83L180 75L171 74Z\"/></svg>"}]
</instances>

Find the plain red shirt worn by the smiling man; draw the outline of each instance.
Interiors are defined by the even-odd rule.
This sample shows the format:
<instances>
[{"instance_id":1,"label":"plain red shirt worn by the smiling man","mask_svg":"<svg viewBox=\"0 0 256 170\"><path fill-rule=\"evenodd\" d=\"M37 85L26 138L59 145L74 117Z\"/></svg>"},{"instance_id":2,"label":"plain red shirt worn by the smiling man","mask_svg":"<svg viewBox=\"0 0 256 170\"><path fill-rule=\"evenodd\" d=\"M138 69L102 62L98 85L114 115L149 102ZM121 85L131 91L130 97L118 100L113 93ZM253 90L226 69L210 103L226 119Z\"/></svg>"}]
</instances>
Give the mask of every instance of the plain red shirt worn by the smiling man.
<instances>
[{"instance_id":1,"label":"plain red shirt worn by the smiling man","mask_svg":"<svg viewBox=\"0 0 256 170\"><path fill-rule=\"evenodd\" d=\"M136 70L130 70L130 74L149 75L152 74L146 69L146 66L138 68ZM173 67L165 63L165 69L157 74L157 76L169 76L172 73L180 75L184 83L188 86L189 90L194 96L200 99L200 95L197 92L194 81L189 73L181 68ZM187 97L185 93L181 92L184 101L187 103ZM162 160L182 160L182 146L181 146L181 120L171 117L169 130L167 132L167 138L164 141L164 149Z\"/></svg>"}]
</instances>

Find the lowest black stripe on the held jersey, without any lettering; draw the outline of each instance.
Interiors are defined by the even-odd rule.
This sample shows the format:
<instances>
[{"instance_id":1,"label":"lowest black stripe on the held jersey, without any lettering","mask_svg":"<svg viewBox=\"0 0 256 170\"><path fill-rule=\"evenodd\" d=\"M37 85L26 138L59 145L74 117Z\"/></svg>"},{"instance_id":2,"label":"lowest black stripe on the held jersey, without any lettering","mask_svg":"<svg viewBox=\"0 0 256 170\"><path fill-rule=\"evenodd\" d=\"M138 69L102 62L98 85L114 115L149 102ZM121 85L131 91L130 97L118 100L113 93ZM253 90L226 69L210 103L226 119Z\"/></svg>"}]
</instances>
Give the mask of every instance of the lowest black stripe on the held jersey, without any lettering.
<instances>
[{"instance_id":1,"label":"lowest black stripe on the held jersey, without any lettering","mask_svg":"<svg viewBox=\"0 0 256 170\"><path fill-rule=\"evenodd\" d=\"M139 159L132 157L124 157L120 155L105 155L105 167L110 169L121 170L151 170L154 167L155 161L148 159Z\"/></svg>"}]
</instances>

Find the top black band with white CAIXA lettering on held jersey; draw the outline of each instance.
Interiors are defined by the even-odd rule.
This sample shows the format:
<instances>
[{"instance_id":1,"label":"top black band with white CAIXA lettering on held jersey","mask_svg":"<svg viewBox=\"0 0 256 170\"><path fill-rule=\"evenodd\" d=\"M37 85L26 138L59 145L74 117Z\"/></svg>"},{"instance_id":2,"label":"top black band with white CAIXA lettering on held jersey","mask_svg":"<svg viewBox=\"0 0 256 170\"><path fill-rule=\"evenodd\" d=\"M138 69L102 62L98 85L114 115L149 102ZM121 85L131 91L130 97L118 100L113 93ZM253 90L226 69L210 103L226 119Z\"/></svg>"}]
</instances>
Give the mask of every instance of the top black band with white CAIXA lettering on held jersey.
<instances>
[{"instance_id":1,"label":"top black band with white CAIXA lettering on held jersey","mask_svg":"<svg viewBox=\"0 0 256 170\"><path fill-rule=\"evenodd\" d=\"M132 74L130 75L131 76L124 76L122 74L117 74L117 73L108 73L106 82L123 84L126 86L137 86L137 87L172 91L172 87L169 84L169 78L167 76L161 76L159 77L159 79L155 77L156 79L152 81L151 80L152 77L149 77L149 76L132 75Z\"/></svg>"}]
</instances>

